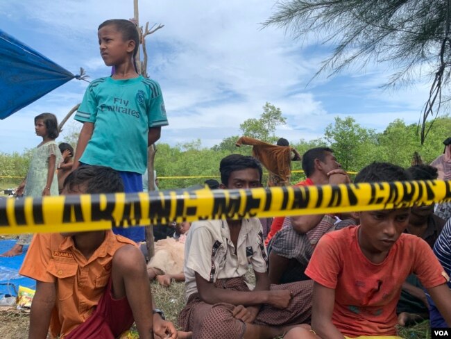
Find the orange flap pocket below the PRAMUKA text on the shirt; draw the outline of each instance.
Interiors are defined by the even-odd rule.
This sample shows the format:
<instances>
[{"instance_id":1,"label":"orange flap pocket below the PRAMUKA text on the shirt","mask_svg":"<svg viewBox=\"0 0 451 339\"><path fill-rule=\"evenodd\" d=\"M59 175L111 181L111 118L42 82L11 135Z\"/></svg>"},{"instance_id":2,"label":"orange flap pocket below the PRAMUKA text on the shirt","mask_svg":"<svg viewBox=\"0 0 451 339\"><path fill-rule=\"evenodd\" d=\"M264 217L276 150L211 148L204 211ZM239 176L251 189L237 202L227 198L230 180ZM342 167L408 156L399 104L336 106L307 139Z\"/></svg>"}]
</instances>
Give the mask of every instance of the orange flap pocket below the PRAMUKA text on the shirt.
<instances>
[{"instance_id":1,"label":"orange flap pocket below the PRAMUKA text on the shirt","mask_svg":"<svg viewBox=\"0 0 451 339\"><path fill-rule=\"evenodd\" d=\"M47 272L58 279L58 299L69 299L74 294L77 270L76 263L62 263L53 259L49 262Z\"/></svg>"}]
</instances>

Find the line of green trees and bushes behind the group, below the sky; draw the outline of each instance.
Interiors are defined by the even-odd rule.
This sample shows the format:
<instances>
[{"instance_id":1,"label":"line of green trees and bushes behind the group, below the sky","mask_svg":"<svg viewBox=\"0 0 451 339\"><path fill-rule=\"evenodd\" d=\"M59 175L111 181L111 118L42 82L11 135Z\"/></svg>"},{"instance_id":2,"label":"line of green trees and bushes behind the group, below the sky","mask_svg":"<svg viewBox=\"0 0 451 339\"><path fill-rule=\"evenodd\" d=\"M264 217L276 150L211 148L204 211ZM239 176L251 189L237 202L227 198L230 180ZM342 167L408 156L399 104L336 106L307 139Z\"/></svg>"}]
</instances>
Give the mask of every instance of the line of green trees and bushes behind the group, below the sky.
<instances>
[{"instance_id":1,"label":"line of green trees and bushes behind the group, below the sky","mask_svg":"<svg viewBox=\"0 0 451 339\"><path fill-rule=\"evenodd\" d=\"M270 120L270 121L268 121ZM260 119L248 119L241 124L243 135L259 138L266 142L275 142L276 126L284 124L280 109L266 103ZM331 147L342 167L348 171L359 169L373 161L386 161L402 167L411 165L415 151L423 158L424 163L431 163L443 153L443 140L451 136L451 117L436 119L425 144L420 145L417 124L405 124L402 119L395 119L382 133L367 129L358 124L354 118L336 117L334 123L325 127L324 135L316 140L289 140L292 147L300 154L312 147ZM280 135L283 137L283 135ZM206 148L201 140L193 140L185 144L169 144L159 142L155 155L155 169L160 179L160 189L187 188L202 184L206 179L219 180L219 162L224 156L232 153L251 155L252 147L236 147L238 135L222 140L220 144ZM0 152L0 177L26 175L31 151L23 154L6 154ZM293 162L293 170L301 169L300 162ZM200 176L190 179L165 179L167 176ZM267 176L264 176L266 180ZM296 183L303 179L303 174L293 173L291 181ZM21 179L0 178L0 189L14 188Z\"/></svg>"}]
</instances>

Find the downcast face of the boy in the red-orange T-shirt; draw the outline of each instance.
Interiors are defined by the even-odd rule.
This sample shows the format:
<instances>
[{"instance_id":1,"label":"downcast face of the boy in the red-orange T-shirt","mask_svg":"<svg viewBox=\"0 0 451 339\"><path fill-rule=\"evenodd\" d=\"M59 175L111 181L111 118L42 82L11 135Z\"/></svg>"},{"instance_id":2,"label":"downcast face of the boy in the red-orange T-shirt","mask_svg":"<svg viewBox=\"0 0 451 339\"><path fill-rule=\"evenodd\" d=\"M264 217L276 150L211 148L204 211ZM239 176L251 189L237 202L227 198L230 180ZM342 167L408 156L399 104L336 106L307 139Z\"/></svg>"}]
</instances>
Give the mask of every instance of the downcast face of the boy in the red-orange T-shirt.
<instances>
[{"instance_id":1,"label":"downcast face of the boy in the red-orange T-shirt","mask_svg":"<svg viewBox=\"0 0 451 339\"><path fill-rule=\"evenodd\" d=\"M360 212L359 245L371 254L388 252L409 224L410 208Z\"/></svg>"}]
</instances>

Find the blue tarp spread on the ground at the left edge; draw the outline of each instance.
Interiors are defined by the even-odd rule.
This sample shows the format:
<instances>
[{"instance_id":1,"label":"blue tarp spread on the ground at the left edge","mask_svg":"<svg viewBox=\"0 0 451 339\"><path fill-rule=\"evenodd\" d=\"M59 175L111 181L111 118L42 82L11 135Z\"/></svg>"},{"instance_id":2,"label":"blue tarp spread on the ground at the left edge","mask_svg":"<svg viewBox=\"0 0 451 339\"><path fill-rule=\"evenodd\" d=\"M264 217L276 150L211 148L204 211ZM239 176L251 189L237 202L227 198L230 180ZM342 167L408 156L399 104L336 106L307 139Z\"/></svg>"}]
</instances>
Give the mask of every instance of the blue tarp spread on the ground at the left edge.
<instances>
[{"instance_id":1,"label":"blue tarp spread on the ground at the left edge","mask_svg":"<svg viewBox=\"0 0 451 339\"><path fill-rule=\"evenodd\" d=\"M0 253L8 251L16 240L0 240ZM36 289L36 281L19 275L19 269L24 262L28 246L24 246L24 253L10 258L0 256L0 298L3 295L17 296L19 285Z\"/></svg>"}]
</instances>

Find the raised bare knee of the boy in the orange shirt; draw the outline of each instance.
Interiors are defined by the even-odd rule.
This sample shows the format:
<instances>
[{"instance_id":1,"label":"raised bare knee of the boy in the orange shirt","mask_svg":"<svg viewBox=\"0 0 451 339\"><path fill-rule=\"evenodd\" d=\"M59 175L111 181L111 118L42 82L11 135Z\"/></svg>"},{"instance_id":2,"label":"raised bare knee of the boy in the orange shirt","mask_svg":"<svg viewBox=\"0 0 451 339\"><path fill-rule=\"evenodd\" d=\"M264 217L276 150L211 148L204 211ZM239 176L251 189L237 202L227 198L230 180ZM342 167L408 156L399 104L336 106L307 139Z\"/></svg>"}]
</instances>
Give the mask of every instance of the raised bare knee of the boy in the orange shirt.
<instances>
[{"instance_id":1,"label":"raised bare knee of the boy in the orange shirt","mask_svg":"<svg viewBox=\"0 0 451 339\"><path fill-rule=\"evenodd\" d=\"M137 247L125 245L114 252L112 270L126 274L146 272L146 260Z\"/></svg>"}]
</instances>

